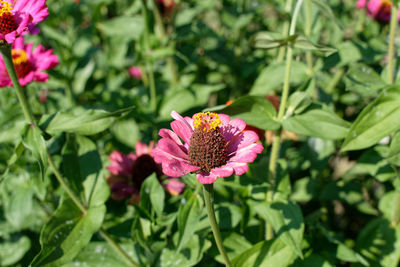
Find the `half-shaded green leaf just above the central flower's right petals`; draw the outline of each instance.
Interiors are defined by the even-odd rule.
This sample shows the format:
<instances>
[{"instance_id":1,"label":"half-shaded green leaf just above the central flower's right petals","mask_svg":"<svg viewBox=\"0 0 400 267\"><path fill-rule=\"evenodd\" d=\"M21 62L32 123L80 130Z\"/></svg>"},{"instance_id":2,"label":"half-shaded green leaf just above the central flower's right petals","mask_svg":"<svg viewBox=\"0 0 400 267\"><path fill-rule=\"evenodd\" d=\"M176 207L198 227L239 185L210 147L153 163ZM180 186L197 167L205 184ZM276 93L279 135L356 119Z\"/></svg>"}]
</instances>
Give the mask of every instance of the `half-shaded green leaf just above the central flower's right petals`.
<instances>
[{"instance_id":1,"label":"half-shaded green leaf just above the central flower's right petals","mask_svg":"<svg viewBox=\"0 0 400 267\"><path fill-rule=\"evenodd\" d=\"M274 120L275 107L262 96L239 97L231 105L213 109L213 111L230 115L232 118L240 118L247 124L260 129L276 130L279 128L279 123Z\"/></svg>"}]
</instances>

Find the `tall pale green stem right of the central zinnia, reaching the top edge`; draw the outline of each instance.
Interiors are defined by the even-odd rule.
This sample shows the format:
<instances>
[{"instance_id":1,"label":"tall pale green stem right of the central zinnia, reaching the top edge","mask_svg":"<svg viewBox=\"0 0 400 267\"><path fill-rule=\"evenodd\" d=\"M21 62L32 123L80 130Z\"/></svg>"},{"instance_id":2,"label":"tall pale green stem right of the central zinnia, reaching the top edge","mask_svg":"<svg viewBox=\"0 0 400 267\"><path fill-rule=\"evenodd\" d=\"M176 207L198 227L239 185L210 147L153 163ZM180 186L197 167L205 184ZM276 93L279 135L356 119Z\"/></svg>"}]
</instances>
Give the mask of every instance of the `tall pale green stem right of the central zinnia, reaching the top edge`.
<instances>
[{"instance_id":1,"label":"tall pale green stem right of the central zinnia, reaching the top edge","mask_svg":"<svg viewBox=\"0 0 400 267\"><path fill-rule=\"evenodd\" d=\"M296 7L293 12L292 21L290 23L289 36L291 36L295 33L297 17L299 15L299 11L300 11L300 7L301 7L302 3L303 3L303 0L298 0L296 3ZM285 115L286 103L287 103L287 99L289 97L290 70L291 70L291 66L292 66L292 60L293 60L293 47L291 44L288 44L287 51L286 51L285 80L283 83L281 104L279 105L278 118L277 118L279 123L282 122L283 117ZM275 180L276 180L276 164L278 162L278 157L279 157L281 133L282 133L282 128L280 128L278 131L275 132L274 142L272 143L271 155L270 155L269 166L268 166L268 168L269 168L268 169L268 180L269 180L270 187L268 188L268 191L266 194L267 202L271 202L274 198ZM265 234L266 234L265 237L267 240L271 240L273 238L273 231L272 231L271 224L267 223L266 228L267 229L265 231Z\"/></svg>"}]
</instances>

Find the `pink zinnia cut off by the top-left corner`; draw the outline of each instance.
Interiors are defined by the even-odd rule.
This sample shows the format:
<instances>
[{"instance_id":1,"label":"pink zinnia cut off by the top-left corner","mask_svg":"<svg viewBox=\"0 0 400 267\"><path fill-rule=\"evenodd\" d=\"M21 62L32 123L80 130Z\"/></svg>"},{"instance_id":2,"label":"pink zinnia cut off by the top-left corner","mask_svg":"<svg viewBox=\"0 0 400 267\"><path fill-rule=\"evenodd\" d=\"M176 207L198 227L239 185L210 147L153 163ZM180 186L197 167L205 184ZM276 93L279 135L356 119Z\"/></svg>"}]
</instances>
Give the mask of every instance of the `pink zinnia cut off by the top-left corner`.
<instances>
[{"instance_id":1,"label":"pink zinnia cut off by the top-left corner","mask_svg":"<svg viewBox=\"0 0 400 267\"><path fill-rule=\"evenodd\" d=\"M0 40L13 43L48 15L46 0L0 0Z\"/></svg>"}]
</instances>

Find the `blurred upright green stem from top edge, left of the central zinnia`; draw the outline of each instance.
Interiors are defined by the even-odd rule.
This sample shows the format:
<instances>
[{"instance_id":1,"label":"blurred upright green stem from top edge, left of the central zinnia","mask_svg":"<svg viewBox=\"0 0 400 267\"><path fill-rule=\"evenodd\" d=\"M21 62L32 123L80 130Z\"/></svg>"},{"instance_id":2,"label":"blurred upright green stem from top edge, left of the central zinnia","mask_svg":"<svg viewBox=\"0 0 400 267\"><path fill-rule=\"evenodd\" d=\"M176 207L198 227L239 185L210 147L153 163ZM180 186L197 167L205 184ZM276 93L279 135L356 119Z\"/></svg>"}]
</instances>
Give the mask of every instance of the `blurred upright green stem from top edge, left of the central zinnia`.
<instances>
[{"instance_id":1,"label":"blurred upright green stem from top edge, left of the central zinnia","mask_svg":"<svg viewBox=\"0 0 400 267\"><path fill-rule=\"evenodd\" d=\"M144 22L143 42L145 49L146 72L149 75L150 106L153 112L155 113L157 109L156 83L154 80L153 65L147 59L147 54L150 52L150 26L149 26L149 12L147 10L146 0L142 0L142 16Z\"/></svg>"}]
</instances>

